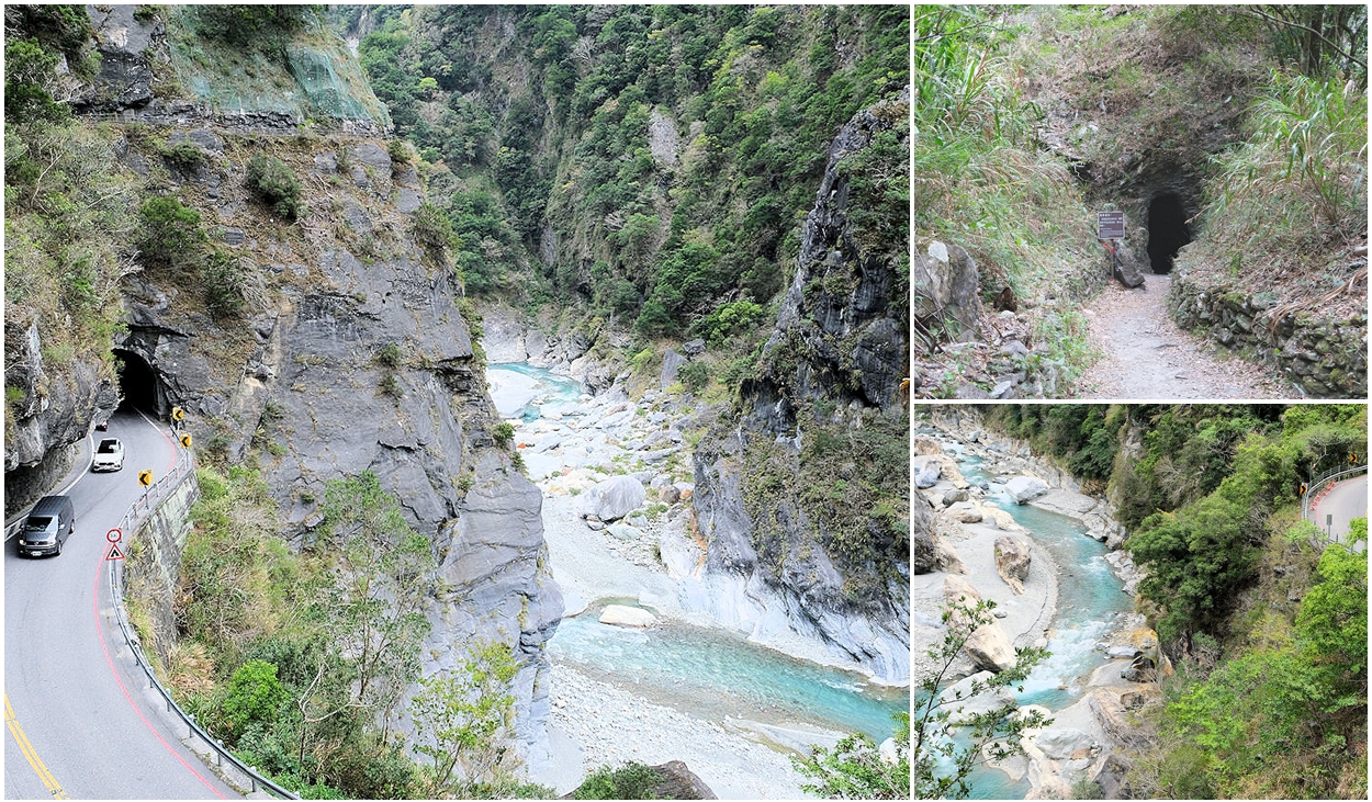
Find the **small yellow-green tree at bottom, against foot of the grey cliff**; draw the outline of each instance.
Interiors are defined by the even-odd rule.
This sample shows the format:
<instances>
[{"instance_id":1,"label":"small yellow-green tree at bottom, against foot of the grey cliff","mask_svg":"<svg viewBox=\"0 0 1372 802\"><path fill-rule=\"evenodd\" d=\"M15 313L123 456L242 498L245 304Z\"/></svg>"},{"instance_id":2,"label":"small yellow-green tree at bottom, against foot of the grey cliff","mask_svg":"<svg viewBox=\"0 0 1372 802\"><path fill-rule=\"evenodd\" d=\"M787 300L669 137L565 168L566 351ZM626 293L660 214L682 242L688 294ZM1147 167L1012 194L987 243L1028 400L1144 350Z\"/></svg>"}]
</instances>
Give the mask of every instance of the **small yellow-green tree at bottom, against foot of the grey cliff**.
<instances>
[{"instance_id":1,"label":"small yellow-green tree at bottom, against foot of the grey cliff","mask_svg":"<svg viewBox=\"0 0 1372 802\"><path fill-rule=\"evenodd\" d=\"M506 742L514 718L510 683L517 672L508 646L476 643L460 670L420 680L423 691L412 706L420 735L414 751L432 761L432 795L472 797L514 768Z\"/></svg>"}]
</instances>

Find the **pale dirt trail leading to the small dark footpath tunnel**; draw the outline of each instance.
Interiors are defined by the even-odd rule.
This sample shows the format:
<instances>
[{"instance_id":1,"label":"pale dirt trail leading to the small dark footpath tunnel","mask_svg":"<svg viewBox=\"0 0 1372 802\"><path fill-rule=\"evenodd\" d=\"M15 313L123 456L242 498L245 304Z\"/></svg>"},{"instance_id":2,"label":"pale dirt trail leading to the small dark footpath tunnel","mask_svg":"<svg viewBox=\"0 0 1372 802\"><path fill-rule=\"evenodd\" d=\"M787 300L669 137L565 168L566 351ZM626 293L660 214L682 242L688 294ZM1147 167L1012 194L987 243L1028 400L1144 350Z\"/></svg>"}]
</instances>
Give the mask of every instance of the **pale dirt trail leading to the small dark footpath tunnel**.
<instances>
[{"instance_id":1,"label":"pale dirt trail leading to the small dark footpath tunnel","mask_svg":"<svg viewBox=\"0 0 1372 802\"><path fill-rule=\"evenodd\" d=\"M1077 381L1083 399L1266 399L1290 396L1270 372L1228 356L1168 315L1169 276L1144 287L1110 282L1089 306L1087 340L1100 358ZM1216 355L1216 351L1220 355Z\"/></svg>"}]
</instances>

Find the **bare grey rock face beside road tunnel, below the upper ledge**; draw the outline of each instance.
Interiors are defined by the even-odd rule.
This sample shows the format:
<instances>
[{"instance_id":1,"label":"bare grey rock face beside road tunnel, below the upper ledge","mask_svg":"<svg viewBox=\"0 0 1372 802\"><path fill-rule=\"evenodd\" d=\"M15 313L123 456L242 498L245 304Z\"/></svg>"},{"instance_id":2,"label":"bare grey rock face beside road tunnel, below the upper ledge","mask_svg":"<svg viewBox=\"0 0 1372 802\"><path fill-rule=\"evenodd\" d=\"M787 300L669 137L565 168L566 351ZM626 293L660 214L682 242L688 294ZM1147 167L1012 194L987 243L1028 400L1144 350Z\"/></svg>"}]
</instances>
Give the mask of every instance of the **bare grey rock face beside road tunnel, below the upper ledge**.
<instances>
[{"instance_id":1,"label":"bare grey rock face beside road tunnel, below the upper ledge","mask_svg":"<svg viewBox=\"0 0 1372 802\"><path fill-rule=\"evenodd\" d=\"M143 276L126 291L118 354L139 377L130 387L150 385L140 403L182 407L198 443L214 443L229 463L261 465L294 547L311 537L329 480L375 473L438 558L423 670L458 668L472 643L509 646L520 662L516 735L538 761L547 749L545 643L563 611L546 568L542 496L493 439L499 417L461 289L395 233L410 226L402 191L421 192L414 169L392 165L373 141L316 148L281 155L305 184L328 188L311 204L397 221L390 233L373 230L381 250L359 258L365 243L346 226L272 233L266 210L233 178L252 148L226 148L235 155L211 160L206 175L173 180L213 188L218 204L202 215L252 232L229 247L263 297L220 324L176 282ZM340 156L353 165L346 178ZM398 358L383 365L387 347Z\"/></svg>"}]
</instances>

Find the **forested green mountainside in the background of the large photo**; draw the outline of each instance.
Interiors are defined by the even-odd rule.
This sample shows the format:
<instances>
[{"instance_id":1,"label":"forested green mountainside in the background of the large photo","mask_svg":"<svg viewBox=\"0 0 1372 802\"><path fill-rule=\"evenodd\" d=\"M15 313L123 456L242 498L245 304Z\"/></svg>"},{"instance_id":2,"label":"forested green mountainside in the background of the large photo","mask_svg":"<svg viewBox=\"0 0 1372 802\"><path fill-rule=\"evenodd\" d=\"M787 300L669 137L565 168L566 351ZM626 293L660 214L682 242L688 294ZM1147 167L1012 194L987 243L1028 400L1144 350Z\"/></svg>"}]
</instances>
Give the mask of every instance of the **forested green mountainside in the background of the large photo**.
<instances>
[{"instance_id":1,"label":"forested green mountainside in the background of the large photo","mask_svg":"<svg viewBox=\"0 0 1372 802\"><path fill-rule=\"evenodd\" d=\"M359 58L435 165L429 196L471 292L715 344L768 321L829 141L908 75L899 5L338 14L376 27ZM881 158L903 159L888 145ZM901 237L892 192L868 214Z\"/></svg>"}]
</instances>

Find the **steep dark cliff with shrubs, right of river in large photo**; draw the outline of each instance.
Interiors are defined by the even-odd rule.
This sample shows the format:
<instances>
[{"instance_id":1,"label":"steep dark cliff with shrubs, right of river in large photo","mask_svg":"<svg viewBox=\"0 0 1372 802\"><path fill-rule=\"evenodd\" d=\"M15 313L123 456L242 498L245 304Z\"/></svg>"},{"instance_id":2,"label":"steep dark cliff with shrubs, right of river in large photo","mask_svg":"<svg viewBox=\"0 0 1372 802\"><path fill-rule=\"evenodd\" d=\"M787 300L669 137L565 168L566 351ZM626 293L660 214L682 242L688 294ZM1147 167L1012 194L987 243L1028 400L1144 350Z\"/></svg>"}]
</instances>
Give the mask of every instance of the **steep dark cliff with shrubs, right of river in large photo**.
<instances>
[{"instance_id":1,"label":"steep dark cliff with shrubs, right of river in large photo","mask_svg":"<svg viewBox=\"0 0 1372 802\"><path fill-rule=\"evenodd\" d=\"M903 237L874 236L884 208L863 166L906 152L907 108L874 106L834 138L760 372L696 452L707 573L757 610L744 624L781 613L895 683L910 672L906 255Z\"/></svg>"}]
</instances>

